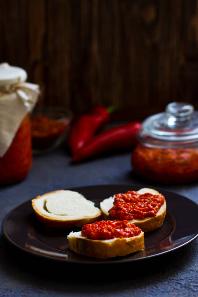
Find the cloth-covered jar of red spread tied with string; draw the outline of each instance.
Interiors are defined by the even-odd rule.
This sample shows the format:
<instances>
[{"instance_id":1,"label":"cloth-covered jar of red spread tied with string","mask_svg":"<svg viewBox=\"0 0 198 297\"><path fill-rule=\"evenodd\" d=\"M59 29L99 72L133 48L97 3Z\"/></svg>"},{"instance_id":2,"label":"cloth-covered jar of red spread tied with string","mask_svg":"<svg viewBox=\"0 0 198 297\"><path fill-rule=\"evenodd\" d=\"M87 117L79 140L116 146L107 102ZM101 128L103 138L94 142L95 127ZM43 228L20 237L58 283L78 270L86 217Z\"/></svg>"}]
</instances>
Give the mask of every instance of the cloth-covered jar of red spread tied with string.
<instances>
[{"instance_id":1,"label":"cloth-covered jar of red spread tied with string","mask_svg":"<svg viewBox=\"0 0 198 297\"><path fill-rule=\"evenodd\" d=\"M0 64L0 184L22 181L32 166L30 113L38 85L24 69Z\"/></svg>"}]
</instances>

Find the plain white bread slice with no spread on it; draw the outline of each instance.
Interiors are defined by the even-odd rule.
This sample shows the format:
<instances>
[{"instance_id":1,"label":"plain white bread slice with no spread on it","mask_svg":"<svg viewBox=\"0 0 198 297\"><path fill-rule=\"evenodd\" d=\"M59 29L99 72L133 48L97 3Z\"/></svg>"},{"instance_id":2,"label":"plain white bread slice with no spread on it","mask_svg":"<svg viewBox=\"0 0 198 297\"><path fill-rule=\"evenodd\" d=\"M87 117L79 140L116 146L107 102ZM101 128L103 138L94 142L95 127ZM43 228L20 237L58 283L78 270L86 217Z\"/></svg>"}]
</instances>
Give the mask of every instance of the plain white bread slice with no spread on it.
<instances>
[{"instance_id":1,"label":"plain white bread slice with no spread on it","mask_svg":"<svg viewBox=\"0 0 198 297\"><path fill-rule=\"evenodd\" d=\"M57 190L32 199L37 219L49 228L82 227L101 218L101 211L94 202L80 193Z\"/></svg>"}]
</instances>

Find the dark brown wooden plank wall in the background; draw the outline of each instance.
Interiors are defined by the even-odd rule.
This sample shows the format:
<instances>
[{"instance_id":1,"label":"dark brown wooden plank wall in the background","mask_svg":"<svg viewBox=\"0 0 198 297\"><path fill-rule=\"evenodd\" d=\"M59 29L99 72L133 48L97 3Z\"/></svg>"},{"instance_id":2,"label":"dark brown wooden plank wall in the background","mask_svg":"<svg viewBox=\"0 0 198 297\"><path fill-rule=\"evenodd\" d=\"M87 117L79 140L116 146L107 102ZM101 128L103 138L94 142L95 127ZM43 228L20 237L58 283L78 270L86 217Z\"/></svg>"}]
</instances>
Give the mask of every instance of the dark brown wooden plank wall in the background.
<instances>
[{"instance_id":1,"label":"dark brown wooden plank wall in the background","mask_svg":"<svg viewBox=\"0 0 198 297\"><path fill-rule=\"evenodd\" d=\"M38 106L198 109L198 0L0 0L0 62L41 86Z\"/></svg>"}]
</instances>

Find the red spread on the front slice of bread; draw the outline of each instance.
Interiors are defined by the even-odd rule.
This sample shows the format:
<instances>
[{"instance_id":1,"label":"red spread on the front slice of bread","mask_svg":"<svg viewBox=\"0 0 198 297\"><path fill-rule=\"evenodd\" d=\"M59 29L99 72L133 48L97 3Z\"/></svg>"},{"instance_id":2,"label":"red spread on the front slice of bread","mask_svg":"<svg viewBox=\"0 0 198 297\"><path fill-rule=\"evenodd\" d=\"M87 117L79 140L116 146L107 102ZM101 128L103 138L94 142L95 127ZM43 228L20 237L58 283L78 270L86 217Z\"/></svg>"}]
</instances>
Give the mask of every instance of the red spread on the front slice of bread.
<instances>
[{"instance_id":1,"label":"red spread on the front slice of bread","mask_svg":"<svg viewBox=\"0 0 198 297\"><path fill-rule=\"evenodd\" d=\"M82 236L86 236L89 239L113 239L137 236L141 233L141 230L127 220L101 220L84 225L81 233Z\"/></svg>"}]
</instances>

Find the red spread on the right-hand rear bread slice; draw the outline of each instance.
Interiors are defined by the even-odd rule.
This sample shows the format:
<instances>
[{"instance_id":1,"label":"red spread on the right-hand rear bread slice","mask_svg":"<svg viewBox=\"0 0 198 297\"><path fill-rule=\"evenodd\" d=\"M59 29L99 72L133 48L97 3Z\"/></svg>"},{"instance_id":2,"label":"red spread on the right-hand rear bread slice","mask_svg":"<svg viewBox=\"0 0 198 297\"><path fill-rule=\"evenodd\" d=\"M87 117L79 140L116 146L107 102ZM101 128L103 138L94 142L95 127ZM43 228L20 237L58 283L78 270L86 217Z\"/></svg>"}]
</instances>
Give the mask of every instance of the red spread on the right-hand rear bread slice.
<instances>
[{"instance_id":1,"label":"red spread on the right-hand rear bread slice","mask_svg":"<svg viewBox=\"0 0 198 297\"><path fill-rule=\"evenodd\" d=\"M119 220L144 219L147 216L156 216L164 202L162 195L140 195L138 192L128 191L115 194L114 206L109 210L109 214L111 218Z\"/></svg>"}]
</instances>

